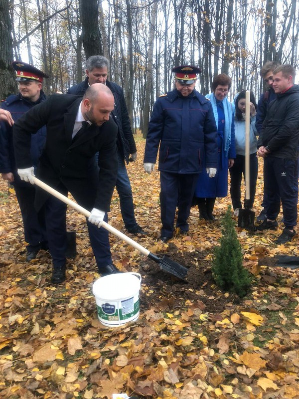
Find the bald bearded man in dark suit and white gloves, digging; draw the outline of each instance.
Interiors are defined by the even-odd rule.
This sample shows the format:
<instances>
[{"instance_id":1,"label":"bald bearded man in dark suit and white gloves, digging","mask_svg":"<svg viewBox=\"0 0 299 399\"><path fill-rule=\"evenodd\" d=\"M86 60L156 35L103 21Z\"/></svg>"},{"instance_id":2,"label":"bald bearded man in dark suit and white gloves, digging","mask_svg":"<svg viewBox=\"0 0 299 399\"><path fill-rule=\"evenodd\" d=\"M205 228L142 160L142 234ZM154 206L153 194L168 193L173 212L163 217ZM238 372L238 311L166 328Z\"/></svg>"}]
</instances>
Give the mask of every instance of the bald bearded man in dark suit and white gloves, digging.
<instances>
[{"instance_id":1,"label":"bald bearded man in dark suit and white gloves, digging","mask_svg":"<svg viewBox=\"0 0 299 399\"><path fill-rule=\"evenodd\" d=\"M119 270L111 259L108 234L97 227L107 220L117 177L117 126L110 118L114 97L110 89L94 84L79 96L54 94L20 118L13 128L16 166L24 181L33 184L30 158L30 134L46 125L45 149L40 157L37 177L49 186L74 199L91 211L88 231L99 272ZM86 126L87 125L87 126ZM89 176L88 165L99 152L99 175ZM95 182L97 181L97 184ZM37 188L37 209L44 206L49 249L53 260L52 283L65 280L66 205ZM105 242L106 237L106 242Z\"/></svg>"}]
</instances>

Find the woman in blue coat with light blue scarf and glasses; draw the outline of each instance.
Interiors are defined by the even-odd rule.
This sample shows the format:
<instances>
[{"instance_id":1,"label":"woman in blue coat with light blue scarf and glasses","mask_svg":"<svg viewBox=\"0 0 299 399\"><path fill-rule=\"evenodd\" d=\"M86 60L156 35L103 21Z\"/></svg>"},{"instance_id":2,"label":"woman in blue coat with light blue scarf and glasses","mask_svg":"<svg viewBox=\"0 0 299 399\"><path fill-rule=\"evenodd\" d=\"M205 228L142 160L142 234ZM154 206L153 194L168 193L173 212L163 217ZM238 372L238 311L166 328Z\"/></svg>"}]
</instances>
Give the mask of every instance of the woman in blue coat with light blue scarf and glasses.
<instances>
[{"instance_id":1,"label":"woman in blue coat with light blue scarf and glasses","mask_svg":"<svg viewBox=\"0 0 299 399\"><path fill-rule=\"evenodd\" d=\"M212 83L213 93L207 94L211 102L218 129L218 165L214 179L202 172L195 189L199 218L215 220L213 208L217 197L226 197L228 190L228 169L236 158L233 106L227 99L231 78L224 73L217 75ZM205 168L203 168L205 171Z\"/></svg>"}]
</instances>

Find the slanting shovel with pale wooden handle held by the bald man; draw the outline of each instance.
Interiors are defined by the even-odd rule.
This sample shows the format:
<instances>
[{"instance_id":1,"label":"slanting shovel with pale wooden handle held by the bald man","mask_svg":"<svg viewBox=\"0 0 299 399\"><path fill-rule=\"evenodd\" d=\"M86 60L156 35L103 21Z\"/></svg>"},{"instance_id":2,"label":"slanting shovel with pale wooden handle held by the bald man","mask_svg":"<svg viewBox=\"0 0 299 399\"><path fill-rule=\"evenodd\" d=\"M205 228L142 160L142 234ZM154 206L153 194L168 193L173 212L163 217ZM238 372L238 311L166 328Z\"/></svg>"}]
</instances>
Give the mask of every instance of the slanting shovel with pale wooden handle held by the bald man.
<instances>
[{"instance_id":1,"label":"slanting shovel with pale wooden handle held by the bald man","mask_svg":"<svg viewBox=\"0 0 299 399\"><path fill-rule=\"evenodd\" d=\"M70 205L72 208L78 210L78 212L84 214L84 216L86 216L86 217L90 216L90 211L87 209L84 209L78 203L65 197L64 195L62 195L58 191L54 190L52 187L46 185L45 183L43 183L41 180L37 179L36 177L34 177L33 180L34 180L34 183L36 184L36 186L42 188L49 194L52 194L52 196L58 198L59 200L66 203L67 205ZM171 260L170 258L168 258L165 255L162 258L159 258L158 256L151 253L148 249L146 249L142 245L138 244L136 241L132 240L130 237L127 237L121 231L117 230L115 227L112 227L110 224L106 223L105 221L103 221L101 227L104 227L106 230L115 234L117 237L123 239L129 245L132 245L134 248L138 249L141 253L148 256L149 259L152 259L153 261L158 263L161 270L163 270L169 274L172 274L173 276L175 276L181 280L184 280L184 281L186 280L186 275L188 273L188 269L185 266L182 266L179 263L174 262L173 260Z\"/></svg>"}]
</instances>

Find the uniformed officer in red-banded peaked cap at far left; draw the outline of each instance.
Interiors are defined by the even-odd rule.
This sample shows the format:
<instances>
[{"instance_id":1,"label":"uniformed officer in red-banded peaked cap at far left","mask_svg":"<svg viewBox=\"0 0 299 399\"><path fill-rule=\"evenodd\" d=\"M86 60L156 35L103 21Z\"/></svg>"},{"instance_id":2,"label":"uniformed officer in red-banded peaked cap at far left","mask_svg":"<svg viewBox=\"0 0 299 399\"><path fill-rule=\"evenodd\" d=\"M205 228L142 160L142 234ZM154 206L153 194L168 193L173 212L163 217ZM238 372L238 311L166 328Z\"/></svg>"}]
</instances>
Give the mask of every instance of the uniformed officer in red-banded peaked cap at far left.
<instances>
[{"instance_id":1,"label":"uniformed officer in red-banded peaked cap at far left","mask_svg":"<svg viewBox=\"0 0 299 399\"><path fill-rule=\"evenodd\" d=\"M16 172L12 125L32 107L46 99L42 91L42 83L43 78L48 76L25 62L14 61L12 66L16 71L19 93L10 95L1 103L0 173L2 179L7 180L14 187L22 214L25 241L28 243L26 260L30 261L36 258L40 249L47 249L48 243L43 212L37 212L34 208L35 187L30 183L22 182ZM36 134L31 135L30 150L35 169L45 142L46 127L43 126Z\"/></svg>"}]
</instances>

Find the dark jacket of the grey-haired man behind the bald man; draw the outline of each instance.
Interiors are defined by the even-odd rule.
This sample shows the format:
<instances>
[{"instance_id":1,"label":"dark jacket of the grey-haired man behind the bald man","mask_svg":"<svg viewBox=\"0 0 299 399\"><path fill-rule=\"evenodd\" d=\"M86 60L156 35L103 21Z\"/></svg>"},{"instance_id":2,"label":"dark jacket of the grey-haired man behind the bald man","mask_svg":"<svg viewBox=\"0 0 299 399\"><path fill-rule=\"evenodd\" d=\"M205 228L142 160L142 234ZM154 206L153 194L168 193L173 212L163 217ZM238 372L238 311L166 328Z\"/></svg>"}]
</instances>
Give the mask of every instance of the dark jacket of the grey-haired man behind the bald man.
<instances>
[{"instance_id":1,"label":"dark jacket of the grey-haired man behind the bald man","mask_svg":"<svg viewBox=\"0 0 299 399\"><path fill-rule=\"evenodd\" d=\"M111 115L119 128L118 147L124 159L129 162L130 154L136 153L137 149L131 129L124 91L118 84L110 82L109 80L106 80L106 86L109 87L114 96L114 110ZM86 77L83 82L71 87L68 90L68 94L83 96L88 87L88 77Z\"/></svg>"}]
</instances>

